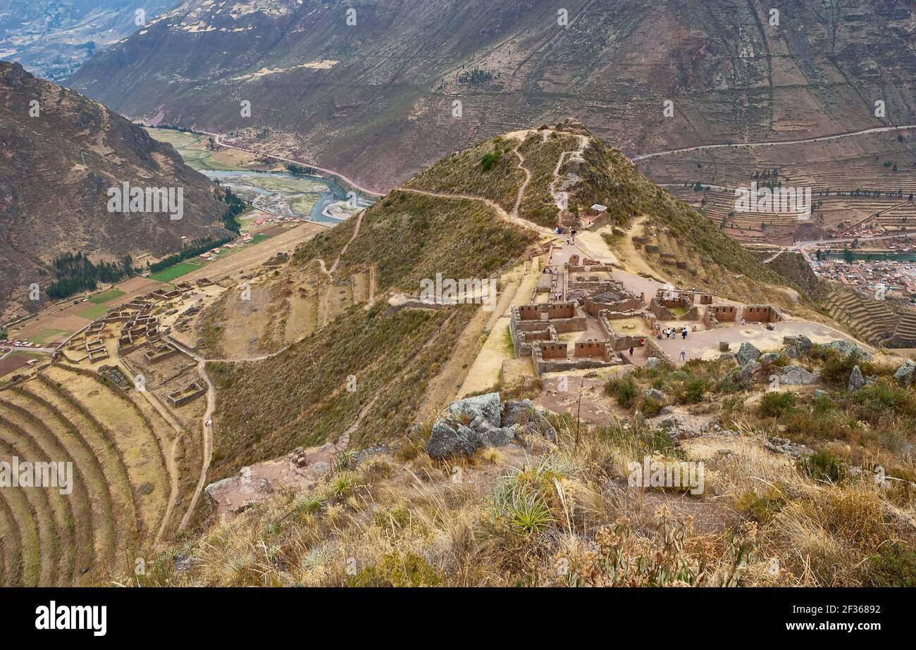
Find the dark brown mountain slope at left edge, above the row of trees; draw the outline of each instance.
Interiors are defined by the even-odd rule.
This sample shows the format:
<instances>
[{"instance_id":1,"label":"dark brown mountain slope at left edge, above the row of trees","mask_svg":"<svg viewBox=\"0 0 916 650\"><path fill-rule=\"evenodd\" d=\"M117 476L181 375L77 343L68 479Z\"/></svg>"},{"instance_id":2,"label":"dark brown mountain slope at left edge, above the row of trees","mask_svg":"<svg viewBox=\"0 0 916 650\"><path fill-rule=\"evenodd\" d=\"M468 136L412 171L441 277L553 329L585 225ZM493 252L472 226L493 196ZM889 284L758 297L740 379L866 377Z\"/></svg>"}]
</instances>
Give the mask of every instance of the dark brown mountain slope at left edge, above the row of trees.
<instances>
[{"instance_id":1,"label":"dark brown mountain slope at left edge, above the row of trees","mask_svg":"<svg viewBox=\"0 0 916 650\"><path fill-rule=\"evenodd\" d=\"M37 102L38 104L32 104ZM38 115L30 116L35 106ZM35 311L62 253L114 261L229 233L213 183L175 150L76 92L0 63L0 316ZM182 191L183 214L108 211L111 188ZM38 283L41 300L29 300ZM5 319L4 319L5 320Z\"/></svg>"}]
</instances>

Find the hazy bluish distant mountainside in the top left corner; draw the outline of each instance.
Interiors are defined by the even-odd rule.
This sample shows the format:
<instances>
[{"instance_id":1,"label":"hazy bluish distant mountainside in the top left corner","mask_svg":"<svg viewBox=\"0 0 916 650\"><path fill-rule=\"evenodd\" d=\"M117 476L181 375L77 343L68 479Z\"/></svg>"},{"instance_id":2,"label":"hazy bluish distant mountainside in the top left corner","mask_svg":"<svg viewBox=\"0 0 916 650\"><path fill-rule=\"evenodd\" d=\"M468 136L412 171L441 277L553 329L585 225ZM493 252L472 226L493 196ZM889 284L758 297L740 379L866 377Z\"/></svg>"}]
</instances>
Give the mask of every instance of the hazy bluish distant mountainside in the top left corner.
<instances>
[{"instance_id":1,"label":"hazy bluish distant mountainside in the top left corner","mask_svg":"<svg viewBox=\"0 0 916 650\"><path fill-rule=\"evenodd\" d=\"M142 27L171 0L8 0L0 5L0 59L52 81L71 75L97 49ZM137 15L142 9L143 14ZM142 23L141 23L142 24Z\"/></svg>"}]
</instances>

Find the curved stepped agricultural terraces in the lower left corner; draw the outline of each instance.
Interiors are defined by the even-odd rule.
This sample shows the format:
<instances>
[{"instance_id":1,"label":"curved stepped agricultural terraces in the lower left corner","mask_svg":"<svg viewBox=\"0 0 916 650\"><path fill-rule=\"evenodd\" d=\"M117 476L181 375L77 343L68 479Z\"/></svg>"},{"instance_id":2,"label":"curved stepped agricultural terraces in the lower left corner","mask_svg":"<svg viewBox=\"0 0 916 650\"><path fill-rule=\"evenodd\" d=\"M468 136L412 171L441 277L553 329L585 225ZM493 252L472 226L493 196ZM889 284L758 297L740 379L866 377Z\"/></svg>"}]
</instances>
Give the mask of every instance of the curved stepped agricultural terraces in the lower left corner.
<instances>
[{"instance_id":1,"label":"curved stepped agricultural terraces in the lower left corner","mask_svg":"<svg viewBox=\"0 0 916 650\"><path fill-rule=\"evenodd\" d=\"M70 494L0 490L0 583L91 585L133 571L178 529L179 493L197 478L178 470L176 444L146 397L76 366L0 390L0 460L73 469Z\"/></svg>"}]
</instances>

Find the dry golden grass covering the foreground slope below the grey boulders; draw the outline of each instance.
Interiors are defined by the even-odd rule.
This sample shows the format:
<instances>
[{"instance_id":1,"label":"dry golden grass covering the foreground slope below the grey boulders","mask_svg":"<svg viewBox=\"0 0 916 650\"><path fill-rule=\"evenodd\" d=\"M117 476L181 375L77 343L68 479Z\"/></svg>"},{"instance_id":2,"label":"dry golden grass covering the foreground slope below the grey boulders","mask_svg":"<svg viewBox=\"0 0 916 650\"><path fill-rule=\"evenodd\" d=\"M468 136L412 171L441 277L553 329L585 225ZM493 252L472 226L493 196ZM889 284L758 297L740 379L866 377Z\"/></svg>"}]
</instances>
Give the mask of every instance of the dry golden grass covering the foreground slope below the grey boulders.
<instances>
[{"instance_id":1,"label":"dry golden grass covering the foreground slope below the grey boulders","mask_svg":"<svg viewBox=\"0 0 916 650\"><path fill-rule=\"evenodd\" d=\"M576 446L573 423L554 423L556 445L461 462L376 453L214 525L144 584L855 586L873 583L882 548L914 538L911 504L867 480L813 482L750 431L730 445L743 451L707 454L692 497L627 487L627 460L683 458L663 439L587 428Z\"/></svg>"}]
</instances>

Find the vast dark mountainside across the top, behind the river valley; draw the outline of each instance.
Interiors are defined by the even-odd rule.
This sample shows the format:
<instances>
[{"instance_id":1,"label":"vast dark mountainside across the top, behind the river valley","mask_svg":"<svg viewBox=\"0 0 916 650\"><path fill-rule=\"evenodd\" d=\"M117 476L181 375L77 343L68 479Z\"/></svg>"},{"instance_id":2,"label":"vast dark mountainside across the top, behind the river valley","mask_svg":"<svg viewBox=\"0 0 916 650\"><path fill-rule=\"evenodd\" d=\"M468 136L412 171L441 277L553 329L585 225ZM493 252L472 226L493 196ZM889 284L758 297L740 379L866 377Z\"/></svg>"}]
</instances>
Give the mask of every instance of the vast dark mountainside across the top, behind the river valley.
<instances>
[{"instance_id":1,"label":"vast dark mountainside across the top, behind the river valley","mask_svg":"<svg viewBox=\"0 0 916 650\"><path fill-rule=\"evenodd\" d=\"M122 114L233 132L376 189L566 114L629 155L916 121L911 3L792 2L778 25L770 5L185 0L70 83Z\"/></svg>"}]
</instances>

